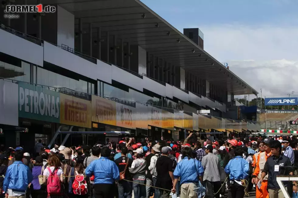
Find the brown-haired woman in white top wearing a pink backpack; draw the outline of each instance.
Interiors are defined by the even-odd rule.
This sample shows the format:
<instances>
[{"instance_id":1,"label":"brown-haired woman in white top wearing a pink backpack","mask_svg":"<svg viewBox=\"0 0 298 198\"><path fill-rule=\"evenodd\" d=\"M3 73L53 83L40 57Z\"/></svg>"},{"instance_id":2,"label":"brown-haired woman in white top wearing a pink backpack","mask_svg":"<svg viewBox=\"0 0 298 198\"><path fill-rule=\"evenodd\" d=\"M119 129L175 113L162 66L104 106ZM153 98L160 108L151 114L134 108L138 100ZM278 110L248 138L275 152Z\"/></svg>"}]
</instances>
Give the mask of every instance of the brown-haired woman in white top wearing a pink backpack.
<instances>
[{"instance_id":1,"label":"brown-haired woman in white top wearing a pink backpack","mask_svg":"<svg viewBox=\"0 0 298 198\"><path fill-rule=\"evenodd\" d=\"M56 155L51 155L48 159L50 167L43 171L43 183L47 184L47 198L64 197L61 183L64 182L61 163Z\"/></svg>"}]
</instances>

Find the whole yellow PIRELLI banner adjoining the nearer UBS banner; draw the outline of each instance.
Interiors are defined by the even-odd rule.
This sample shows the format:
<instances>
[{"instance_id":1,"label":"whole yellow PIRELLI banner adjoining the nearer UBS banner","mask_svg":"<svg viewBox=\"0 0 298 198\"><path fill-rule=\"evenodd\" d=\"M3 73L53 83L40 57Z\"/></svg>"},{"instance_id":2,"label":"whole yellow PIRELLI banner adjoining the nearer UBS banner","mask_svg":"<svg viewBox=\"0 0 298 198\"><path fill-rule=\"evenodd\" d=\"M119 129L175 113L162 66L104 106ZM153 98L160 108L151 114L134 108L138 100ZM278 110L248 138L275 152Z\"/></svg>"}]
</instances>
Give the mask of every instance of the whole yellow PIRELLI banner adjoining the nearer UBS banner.
<instances>
[{"instance_id":1,"label":"whole yellow PIRELLI banner adjoining the nearer UBS banner","mask_svg":"<svg viewBox=\"0 0 298 198\"><path fill-rule=\"evenodd\" d=\"M92 121L116 126L116 102L92 95Z\"/></svg>"}]
</instances>

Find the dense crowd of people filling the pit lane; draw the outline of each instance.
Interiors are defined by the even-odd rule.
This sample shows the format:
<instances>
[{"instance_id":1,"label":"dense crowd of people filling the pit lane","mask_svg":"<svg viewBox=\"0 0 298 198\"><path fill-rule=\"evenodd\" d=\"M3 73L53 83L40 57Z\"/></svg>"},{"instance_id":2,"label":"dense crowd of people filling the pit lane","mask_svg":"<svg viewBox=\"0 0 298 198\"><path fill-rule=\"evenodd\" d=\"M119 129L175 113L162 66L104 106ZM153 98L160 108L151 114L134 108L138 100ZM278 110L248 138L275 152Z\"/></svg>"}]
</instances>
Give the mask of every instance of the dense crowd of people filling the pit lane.
<instances>
[{"instance_id":1,"label":"dense crowd of people filling the pit lane","mask_svg":"<svg viewBox=\"0 0 298 198\"><path fill-rule=\"evenodd\" d=\"M213 139L213 138L212 138ZM98 142L0 151L0 196L9 198L282 198L276 176L297 175L298 136ZM33 155L33 156L32 156ZM295 181L283 182L290 195Z\"/></svg>"}]
</instances>

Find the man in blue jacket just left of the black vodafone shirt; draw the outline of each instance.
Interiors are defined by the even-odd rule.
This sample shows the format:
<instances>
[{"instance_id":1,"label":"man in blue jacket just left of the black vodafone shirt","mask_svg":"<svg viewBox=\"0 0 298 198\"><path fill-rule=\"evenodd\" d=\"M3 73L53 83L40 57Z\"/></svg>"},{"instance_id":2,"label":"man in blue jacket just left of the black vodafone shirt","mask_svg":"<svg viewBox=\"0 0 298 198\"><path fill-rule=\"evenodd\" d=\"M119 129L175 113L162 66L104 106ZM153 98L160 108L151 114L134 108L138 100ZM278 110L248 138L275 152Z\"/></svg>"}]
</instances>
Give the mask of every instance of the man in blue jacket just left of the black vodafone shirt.
<instances>
[{"instance_id":1,"label":"man in blue jacket just left of the black vodafone shirt","mask_svg":"<svg viewBox=\"0 0 298 198\"><path fill-rule=\"evenodd\" d=\"M120 173L115 162L109 160L111 149L104 146L100 152L101 157L94 160L86 168L86 175L92 176L94 174L94 196L111 198L113 195L113 183L120 179Z\"/></svg>"}]
</instances>

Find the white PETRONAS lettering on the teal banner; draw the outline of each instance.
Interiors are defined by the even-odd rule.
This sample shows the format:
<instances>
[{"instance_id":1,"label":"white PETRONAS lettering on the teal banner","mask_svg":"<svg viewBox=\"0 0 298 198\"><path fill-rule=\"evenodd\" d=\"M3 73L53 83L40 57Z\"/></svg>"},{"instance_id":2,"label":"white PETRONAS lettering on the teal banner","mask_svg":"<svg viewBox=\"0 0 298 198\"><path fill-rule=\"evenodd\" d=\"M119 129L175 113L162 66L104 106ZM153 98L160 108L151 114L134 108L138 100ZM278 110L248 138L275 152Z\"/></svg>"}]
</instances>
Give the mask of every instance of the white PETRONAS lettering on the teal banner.
<instances>
[{"instance_id":1,"label":"white PETRONAS lettering on the teal banner","mask_svg":"<svg viewBox=\"0 0 298 198\"><path fill-rule=\"evenodd\" d=\"M59 118L60 98L19 87L19 111Z\"/></svg>"}]
</instances>

